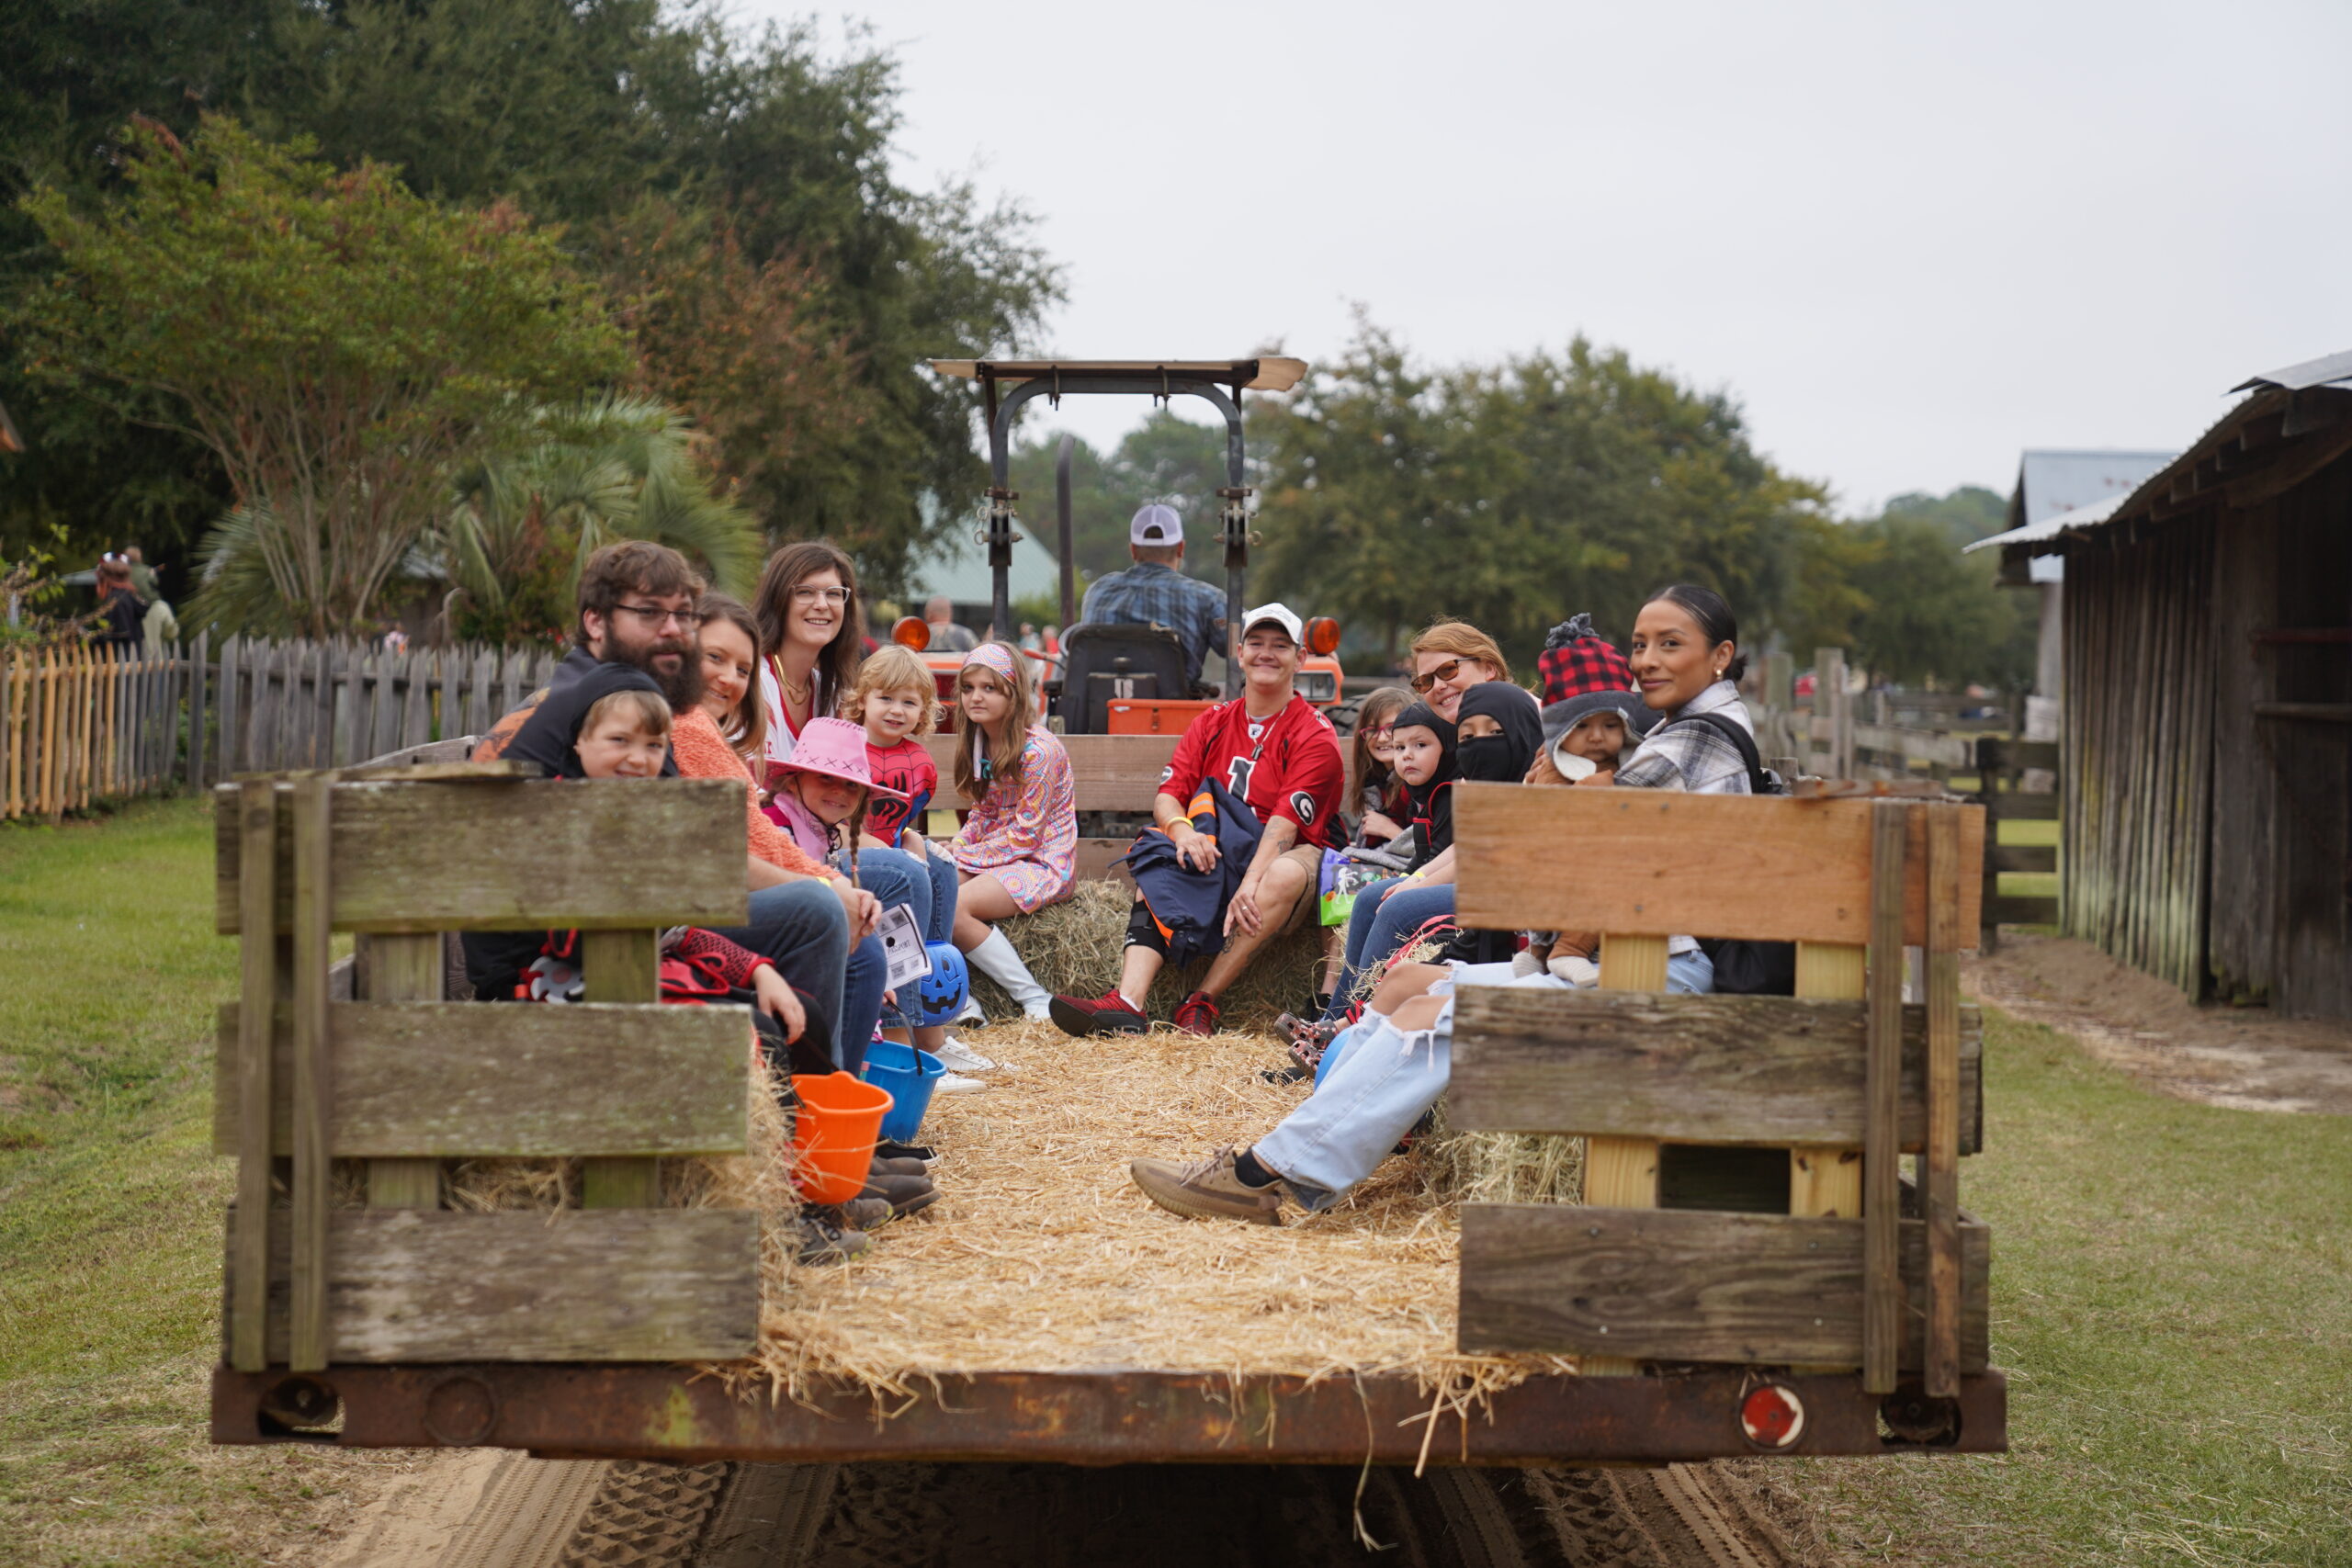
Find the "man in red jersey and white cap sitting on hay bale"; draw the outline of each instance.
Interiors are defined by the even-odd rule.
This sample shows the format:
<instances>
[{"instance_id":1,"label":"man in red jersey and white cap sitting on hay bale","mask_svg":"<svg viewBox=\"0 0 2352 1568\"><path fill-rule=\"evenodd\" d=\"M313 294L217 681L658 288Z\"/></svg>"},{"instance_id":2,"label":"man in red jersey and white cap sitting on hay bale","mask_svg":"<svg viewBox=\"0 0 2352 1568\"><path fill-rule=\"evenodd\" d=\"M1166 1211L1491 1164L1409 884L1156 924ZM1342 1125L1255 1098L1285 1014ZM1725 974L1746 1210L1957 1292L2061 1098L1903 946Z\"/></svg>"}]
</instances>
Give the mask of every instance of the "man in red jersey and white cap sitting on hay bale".
<instances>
[{"instance_id":1,"label":"man in red jersey and white cap sitting on hay bale","mask_svg":"<svg viewBox=\"0 0 2352 1568\"><path fill-rule=\"evenodd\" d=\"M1216 1034L1216 999L1270 938L1315 905L1322 851L1338 842L1345 764L1331 719L1298 696L1301 630L1282 604L1244 616L1242 696L1204 708L1183 731L1152 799L1157 825L1129 856L1141 896L1127 919L1120 983L1101 997L1054 997L1063 1032L1148 1030L1143 1001L1160 969L1216 952L1200 990L1176 1006L1178 1030ZM1214 811L1200 799L1211 780L1240 802L1235 818L1247 813L1247 823L1200 825ZM1247 839L1256 839L1247 865L1225 863L1228 846Z\"/></svg>"}]
</instances>

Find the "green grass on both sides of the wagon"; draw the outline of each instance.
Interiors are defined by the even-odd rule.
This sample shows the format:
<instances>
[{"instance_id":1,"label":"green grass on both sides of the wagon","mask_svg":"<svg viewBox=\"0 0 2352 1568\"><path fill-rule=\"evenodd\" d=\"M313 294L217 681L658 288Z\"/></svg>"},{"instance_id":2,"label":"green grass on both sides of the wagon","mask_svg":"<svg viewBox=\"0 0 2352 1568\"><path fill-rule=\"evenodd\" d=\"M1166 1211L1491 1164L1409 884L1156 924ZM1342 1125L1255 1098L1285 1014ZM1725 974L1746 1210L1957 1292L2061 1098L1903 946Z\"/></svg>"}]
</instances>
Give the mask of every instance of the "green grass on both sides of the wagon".
<instances>
[{"instance_id":1,"label":"green grass on both sides of the wagon","mask_svg":"<svg viewBox=\"0 0 2352 1568\"><path fill-rule=\"evenodd\" d=\"M369 1455L212 1448L212 818L0 830L0 1563L308 1561ZM2013 1453L1816 1460L1849 1561L2352 1563L2352 1121L2211 1110L1994 1018Z\"/></svg>"}]
</instances>

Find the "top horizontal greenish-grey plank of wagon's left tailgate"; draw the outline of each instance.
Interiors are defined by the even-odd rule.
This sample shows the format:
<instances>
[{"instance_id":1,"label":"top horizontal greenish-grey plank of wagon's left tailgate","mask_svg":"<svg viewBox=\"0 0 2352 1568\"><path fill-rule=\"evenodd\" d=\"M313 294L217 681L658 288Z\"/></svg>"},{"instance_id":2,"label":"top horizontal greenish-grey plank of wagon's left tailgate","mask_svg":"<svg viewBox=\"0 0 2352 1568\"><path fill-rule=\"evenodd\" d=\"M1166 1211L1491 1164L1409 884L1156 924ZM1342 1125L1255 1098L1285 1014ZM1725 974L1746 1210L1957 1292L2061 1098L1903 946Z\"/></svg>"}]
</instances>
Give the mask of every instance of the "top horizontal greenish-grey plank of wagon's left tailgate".
<instances>
[{"instance_id":1,"label":"top horizontal greenish-grey plank of wagon's left tailgate","mask_svg":"<svg viewBox=\"0 0 2352 1568\"><path fill-rule=\"evenodd\" d=\"M743 790L724 778L336 783L334 820L339 931L746 919ZM226 835L216 877L219 931L233 933L238 867ZM289 919L285 898L278 919Z\"/></svg>"}]
</instances>

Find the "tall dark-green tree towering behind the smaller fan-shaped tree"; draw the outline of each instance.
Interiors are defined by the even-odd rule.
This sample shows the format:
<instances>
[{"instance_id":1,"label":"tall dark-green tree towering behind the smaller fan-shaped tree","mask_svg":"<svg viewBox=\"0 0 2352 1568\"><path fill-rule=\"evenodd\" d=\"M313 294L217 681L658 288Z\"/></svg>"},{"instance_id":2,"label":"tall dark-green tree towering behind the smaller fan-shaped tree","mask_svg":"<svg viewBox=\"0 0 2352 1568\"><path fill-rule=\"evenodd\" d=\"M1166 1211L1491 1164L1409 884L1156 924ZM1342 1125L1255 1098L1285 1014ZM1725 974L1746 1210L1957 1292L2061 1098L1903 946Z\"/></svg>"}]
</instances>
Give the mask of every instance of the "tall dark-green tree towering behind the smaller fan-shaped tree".
<instances>
[{"instance_id":1,"label":"tall dark-green tree towering behind the smaller fan-shaped tree","mask_svg":"<svg viewBox=\"0 0 2352 1568\"><path fill-rule=\"evenodd\" d=\"M1058 299L1023 212L896 176L896 94L863 38L828 56L807 26L727 26L717 0L26 0L0 9L0 193L108 195L129 113L186 132L214 106L308 134L339 167L395 165L437 202L562 223L583 270L654 306L644 388L717 435L762 527L830 531L889 588L924 501L931 529L967 527L985 484L971 386L913 367L1011 348ZM5 237L0 308L56 268L31 228ZM757 306L760 353L790 348L781 362L809 374L703 376L682 397L682 371L748 364L717 301ZM136 520L167 555L162 536L193 536L226 498L200 447L113 409L16 371L0 402L35 442L0 489L0 545L40 517L113 538Z\"/></svg>"}]
</instances>

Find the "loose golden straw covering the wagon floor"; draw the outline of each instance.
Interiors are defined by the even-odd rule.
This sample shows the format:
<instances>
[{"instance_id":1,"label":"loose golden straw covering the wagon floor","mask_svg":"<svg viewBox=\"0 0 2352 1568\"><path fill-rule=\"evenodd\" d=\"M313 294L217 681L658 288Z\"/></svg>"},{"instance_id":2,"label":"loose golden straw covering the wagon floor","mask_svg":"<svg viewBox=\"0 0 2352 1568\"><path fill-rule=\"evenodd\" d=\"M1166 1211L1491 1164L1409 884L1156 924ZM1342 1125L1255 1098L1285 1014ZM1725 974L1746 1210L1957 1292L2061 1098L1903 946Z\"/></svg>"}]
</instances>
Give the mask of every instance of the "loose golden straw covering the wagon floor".
<instances>
[{"instance_id":1,"label":"loose golden straw covering the wagon floor","mask_svg":"<svg viewBox=\"0 0 2352 1568\"><path fill-rule=\"evenodd\" d=\"M847 1378L889 1403L976 1371L1406 1373L1458 1401L1573 1366L1454 1349L1454 1204L1573 1199L1576 1143L1439 1131L1329 1213L1190 1222L1155 1208L1127 1161L1272 1128L1305 1095L1261 1077L1279 1060L1272 1039L1000 1025L976 1044L1007 1065L988 1091L931 1103L922 1138L941 1152L941 1201L882 1227L866 1258L793 1265L783 1124L764 1095L753 1157L666 1161L673 1201L771 1220L760 1352L729 1375L788 1394ZM548 1161L452 1173L459 1206L557 1201L576 1201L576 1180Z\"/></svg>"}]
</instances>

